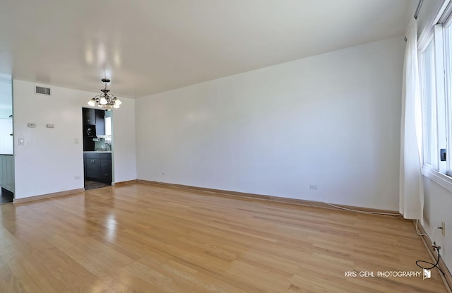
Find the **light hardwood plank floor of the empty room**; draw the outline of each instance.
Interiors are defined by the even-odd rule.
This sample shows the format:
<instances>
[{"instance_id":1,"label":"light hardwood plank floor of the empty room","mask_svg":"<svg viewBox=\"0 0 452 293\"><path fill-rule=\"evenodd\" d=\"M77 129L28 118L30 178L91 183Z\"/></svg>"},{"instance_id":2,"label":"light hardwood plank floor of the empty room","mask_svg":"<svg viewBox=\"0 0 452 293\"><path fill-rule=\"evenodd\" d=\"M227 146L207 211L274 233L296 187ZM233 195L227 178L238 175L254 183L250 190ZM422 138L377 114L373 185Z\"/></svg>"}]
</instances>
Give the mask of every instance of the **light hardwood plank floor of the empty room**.
<instances>
[{"instance_id":1,"label":"light hardwood plank floor of the empty room","mask_svg":"<svg viewBox=\"0 0 452 293\"><path fill-rule=\"evenodd\" d=\"M136 183L0 206L0 292L447 292L411 221Z\"/></svg>"}]
</instances>

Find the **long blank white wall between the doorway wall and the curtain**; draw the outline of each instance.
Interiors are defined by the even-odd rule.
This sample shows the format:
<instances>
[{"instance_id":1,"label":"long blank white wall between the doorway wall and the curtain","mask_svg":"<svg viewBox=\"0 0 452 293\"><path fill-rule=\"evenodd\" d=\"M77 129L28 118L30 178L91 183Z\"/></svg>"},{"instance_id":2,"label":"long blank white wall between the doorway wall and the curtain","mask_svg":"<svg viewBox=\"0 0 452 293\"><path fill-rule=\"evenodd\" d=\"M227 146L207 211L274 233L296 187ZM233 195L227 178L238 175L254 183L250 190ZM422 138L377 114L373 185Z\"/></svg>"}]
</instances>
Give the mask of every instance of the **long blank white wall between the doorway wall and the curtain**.
<instances>
[{"instance_id":1,"label":"long blank white wall between the doorway wall and the curtain","mask_svg":"<svg viewBox=\"0 0 452 293\"><path fill-rule=\"evenodd\" d=\"M137 99L138 179L398 210L404 44Z\"/></svg>"}]
</instances>

